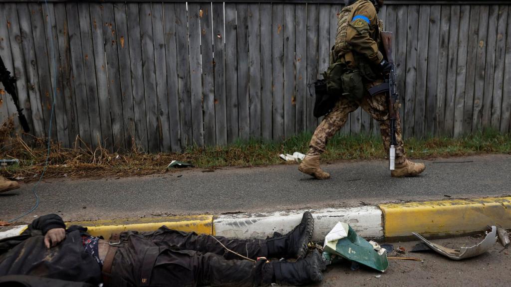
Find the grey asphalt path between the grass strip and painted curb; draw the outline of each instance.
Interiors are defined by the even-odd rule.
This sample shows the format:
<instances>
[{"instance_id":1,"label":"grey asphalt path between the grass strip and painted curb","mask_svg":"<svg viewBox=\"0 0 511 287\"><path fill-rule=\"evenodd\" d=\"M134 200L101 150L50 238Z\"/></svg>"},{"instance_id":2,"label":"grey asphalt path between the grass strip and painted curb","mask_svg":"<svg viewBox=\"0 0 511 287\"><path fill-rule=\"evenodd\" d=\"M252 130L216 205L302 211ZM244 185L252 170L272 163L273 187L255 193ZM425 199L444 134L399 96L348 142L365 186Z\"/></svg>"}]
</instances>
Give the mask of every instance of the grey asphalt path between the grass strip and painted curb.
<instances>
[{"instance_id":1,"label":"grey asphalt path between the grass strip and painted curb","mask_svg":"<svg viewBox=\"0 0 511 287\"><path fill-rule=\"evenodd\" d=\"M332 174L319 181L296 164L227 168L215 172L174 171L162 175L104 179L44 179L34 216L58 213L66 221L138 218L223 212L357 206L382 202L442 200L511 194L511 155L425 161L415 178L391 178L387 162L324 164ZM0 194L0 220L10 220L35 203L31 188ZM446 197L447 196L447 197Z\"/></svg>"}]
</instances>

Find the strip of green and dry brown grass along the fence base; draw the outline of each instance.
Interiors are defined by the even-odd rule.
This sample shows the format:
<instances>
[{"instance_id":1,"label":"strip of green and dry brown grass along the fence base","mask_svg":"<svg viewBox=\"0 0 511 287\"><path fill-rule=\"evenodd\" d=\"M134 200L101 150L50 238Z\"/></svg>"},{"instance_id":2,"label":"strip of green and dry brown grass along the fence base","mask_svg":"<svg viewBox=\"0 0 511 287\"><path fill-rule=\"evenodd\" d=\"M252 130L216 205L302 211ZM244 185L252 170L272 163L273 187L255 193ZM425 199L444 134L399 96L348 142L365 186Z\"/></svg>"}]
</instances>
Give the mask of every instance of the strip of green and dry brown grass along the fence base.
<instances>
[{"instance_id":1,"label":"strip of green and dry brown grass along the fence base","mask_svg":"<svg viewBox=\"0 0 511 287\"><path fill-rule=\"evenodd\" d=\"M261 166L286 164L278 155L295 151L306 153L311 133L292 136L283 142L262 140L237 141L227 147L189 147L182 153L147 154L140 150L115 153L104 148L91 149L83 142L75 148L51 145L47 177L105 177L136 176L166 173L172 160L185 161L197 168L214 169L223 166ZM77 141L80 139L77 138ZM467 156L476 154L511 153L511 135L497 131L479 131L471 135L451 137L430 137L405 140L405 149L410 158L434 158ZM46 156L45 140L35 138L28 145L19 136L4 137L0 158L17 158L19 164L8 165L0 174L8 178L32 181L40 175ZM384 159L387 151L381 139L374 135L336 135L323 153L323 161Z\"/></svg>"}]
</instances>

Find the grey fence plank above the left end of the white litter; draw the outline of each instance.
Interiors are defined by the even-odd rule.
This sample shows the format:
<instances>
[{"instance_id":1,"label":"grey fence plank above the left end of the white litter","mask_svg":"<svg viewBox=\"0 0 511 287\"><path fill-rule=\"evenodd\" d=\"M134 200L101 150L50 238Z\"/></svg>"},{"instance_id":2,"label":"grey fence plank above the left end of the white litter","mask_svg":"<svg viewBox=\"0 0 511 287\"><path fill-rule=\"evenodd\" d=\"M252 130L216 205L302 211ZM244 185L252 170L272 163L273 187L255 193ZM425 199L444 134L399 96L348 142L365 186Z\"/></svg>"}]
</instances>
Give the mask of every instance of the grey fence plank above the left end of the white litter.
<instances>
[{"instance_id":1,"label":"grey fence plank above the left end of the white litter","mask_svg":"<svg viewBox=\"0 0 511 287\"><path fill-rule=\"evenodd\" d=\"M284 6L272 5L273 140L284 138Z\"/></svg>"}]
</instances>

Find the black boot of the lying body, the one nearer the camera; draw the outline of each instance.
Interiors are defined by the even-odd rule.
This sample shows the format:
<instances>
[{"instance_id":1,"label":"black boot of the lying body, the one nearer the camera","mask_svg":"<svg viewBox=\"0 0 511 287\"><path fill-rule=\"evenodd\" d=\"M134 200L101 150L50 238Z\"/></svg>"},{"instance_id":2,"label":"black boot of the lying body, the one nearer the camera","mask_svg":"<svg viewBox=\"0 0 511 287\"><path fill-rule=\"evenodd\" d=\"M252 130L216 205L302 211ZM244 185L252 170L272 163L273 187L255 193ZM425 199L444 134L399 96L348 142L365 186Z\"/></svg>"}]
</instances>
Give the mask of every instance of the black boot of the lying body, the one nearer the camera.
<instances>
[{"instance_id":1,"label":"black boot of the lying body, the one nearer the camera","mask_svg":"<svg viewBox=\"0 0 511 287\"><path fill-rule=\"evenodd\" d=\"M270 262L273 265L275 283L281 285L304 285L323 280L323 270L327 268L321 254L314 250L306 258L295 262Z\"/></svg>"}]
</instances>

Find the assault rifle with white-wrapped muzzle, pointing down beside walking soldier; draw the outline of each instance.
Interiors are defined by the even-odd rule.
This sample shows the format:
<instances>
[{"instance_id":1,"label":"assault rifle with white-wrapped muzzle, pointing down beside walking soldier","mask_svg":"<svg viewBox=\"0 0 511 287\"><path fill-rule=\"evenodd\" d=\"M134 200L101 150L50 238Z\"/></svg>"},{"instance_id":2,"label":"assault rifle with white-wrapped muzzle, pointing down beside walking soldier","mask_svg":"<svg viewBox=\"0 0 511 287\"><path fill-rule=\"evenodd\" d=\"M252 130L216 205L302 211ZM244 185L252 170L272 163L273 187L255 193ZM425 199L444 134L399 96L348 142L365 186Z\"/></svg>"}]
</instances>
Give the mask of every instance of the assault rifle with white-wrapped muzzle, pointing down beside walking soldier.
<instances>
[{"instance_id":1,"label":"assault rifle with white-wrapped muzzle, pointing down beside walking soldier","mask_svg":"<svg viewBox=\"0 0 511 287\"><path fill-rule=\"evenodd\" d=\"M389 94L388 110L390 115L390 151L389 151L389 169L394 170L394 162L396 161L396 146L398 145L396 138L396 123L399 117L399 93L396 90L396 66L392 58L392 32L380 32L383 42L384 55L387 62L392 65L387 79L381 85L369 89L371 95L381 92Z\"/></svg>"}]
</instances>

